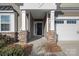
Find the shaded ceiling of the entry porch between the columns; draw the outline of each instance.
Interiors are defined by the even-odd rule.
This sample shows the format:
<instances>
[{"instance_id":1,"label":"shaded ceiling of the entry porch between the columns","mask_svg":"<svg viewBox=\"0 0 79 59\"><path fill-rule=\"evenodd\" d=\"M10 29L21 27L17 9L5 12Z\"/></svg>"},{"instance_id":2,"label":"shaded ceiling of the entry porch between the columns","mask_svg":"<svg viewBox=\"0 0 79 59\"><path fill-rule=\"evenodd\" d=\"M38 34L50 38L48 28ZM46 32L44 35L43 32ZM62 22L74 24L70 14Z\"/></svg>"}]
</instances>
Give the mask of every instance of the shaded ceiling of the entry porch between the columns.
<instances>
[{"instance_id":1,"label":"shaded ceiling of the entry porch between the columns","mask_svg":"<svg viewBox=\"0 0 79 59\"><path fill-rule=\"evenodd\" d=\"M34 19L43 19L48 10L32 10L31 14Z\"/></svg>"}]
</instances>

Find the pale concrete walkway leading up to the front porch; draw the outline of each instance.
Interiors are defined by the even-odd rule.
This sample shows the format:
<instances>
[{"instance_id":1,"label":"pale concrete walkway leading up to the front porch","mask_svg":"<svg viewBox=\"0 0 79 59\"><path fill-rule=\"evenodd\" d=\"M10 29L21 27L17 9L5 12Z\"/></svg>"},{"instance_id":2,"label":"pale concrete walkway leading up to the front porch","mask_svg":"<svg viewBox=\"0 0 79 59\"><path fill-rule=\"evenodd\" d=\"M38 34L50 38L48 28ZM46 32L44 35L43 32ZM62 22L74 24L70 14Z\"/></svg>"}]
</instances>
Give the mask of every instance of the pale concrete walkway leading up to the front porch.
<instances>
[{"instance_id":1,"label":"pale concrete walkway leading up to the front porch","mask_svg":"<svg viewBox=\"0 0 79 59\"><path fill-rule=\"evenodd\" d=\"M47 40L45 37L29 42L28 44L33 44L33 50L30 56L65 56L64 52L58 52L54 54L51 52L46 52L44 49L46 42Z\"/></svg>"}]
</instances>

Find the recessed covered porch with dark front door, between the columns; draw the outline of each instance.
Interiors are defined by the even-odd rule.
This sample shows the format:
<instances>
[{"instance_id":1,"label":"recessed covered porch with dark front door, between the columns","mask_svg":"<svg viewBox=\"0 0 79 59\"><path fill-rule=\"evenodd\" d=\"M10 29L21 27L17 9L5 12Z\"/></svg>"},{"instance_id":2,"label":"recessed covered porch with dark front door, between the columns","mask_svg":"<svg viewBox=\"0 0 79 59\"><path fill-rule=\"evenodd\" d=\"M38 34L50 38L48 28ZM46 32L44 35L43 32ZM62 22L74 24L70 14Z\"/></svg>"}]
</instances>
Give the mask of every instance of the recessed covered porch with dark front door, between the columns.
<instances>
[{"instance_id":1,"label":"recessed covered porch with dark front door, between the columns","mask_svg":"<svg viewBox=\"0 0 79 59\"><path fill-rule=\"evenodd\" d=\"M27 10L27 42L47 36L47 19L49 10Z\"/></svg>"}]
</instances>

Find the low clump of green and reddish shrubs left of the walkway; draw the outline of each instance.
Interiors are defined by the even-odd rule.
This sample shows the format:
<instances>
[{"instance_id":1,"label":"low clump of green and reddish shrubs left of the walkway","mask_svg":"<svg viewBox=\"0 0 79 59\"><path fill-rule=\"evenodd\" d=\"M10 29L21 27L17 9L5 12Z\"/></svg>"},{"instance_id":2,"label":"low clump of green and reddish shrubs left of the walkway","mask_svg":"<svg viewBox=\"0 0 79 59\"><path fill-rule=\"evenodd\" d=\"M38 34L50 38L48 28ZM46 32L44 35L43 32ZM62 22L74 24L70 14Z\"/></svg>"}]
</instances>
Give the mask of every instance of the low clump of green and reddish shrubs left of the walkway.
<instances>
[{"instance_id":1,"label":"low clump of green and reddish shrubs left of the walkway","mask_svg":"<svg viewBox=\"0 0 79 59\"><path fill-rule=\"evenodd\" d=\"M0 56L28 56L31 54L32 46L32 44L23 46L19 44L9 45L0 49Z\"/></svg>"}]
</instances>

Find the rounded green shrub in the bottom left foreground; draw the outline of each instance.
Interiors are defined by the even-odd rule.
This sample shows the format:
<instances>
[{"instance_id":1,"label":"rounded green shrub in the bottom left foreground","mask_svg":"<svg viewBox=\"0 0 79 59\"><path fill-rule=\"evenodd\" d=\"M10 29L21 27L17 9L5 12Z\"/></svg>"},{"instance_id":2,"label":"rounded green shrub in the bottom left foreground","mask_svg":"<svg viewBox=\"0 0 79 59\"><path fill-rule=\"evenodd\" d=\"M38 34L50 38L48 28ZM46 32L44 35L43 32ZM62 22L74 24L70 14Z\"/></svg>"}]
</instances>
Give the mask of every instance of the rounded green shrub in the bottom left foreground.
<instances>
[{"instance_id":1,"label":"rounded green shrub in the bottom left foreground","mask_svg":"<svg viewBox=\"0 0 79 59\"><path fill-rule=\"evenodd\" d=\"M0 56L23 56L24 49L20 45L7 46L0 49Z\"/></svg>"}]
</instances>

